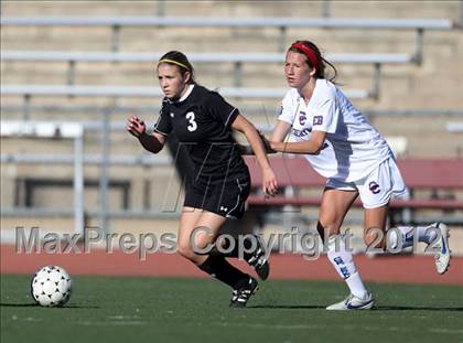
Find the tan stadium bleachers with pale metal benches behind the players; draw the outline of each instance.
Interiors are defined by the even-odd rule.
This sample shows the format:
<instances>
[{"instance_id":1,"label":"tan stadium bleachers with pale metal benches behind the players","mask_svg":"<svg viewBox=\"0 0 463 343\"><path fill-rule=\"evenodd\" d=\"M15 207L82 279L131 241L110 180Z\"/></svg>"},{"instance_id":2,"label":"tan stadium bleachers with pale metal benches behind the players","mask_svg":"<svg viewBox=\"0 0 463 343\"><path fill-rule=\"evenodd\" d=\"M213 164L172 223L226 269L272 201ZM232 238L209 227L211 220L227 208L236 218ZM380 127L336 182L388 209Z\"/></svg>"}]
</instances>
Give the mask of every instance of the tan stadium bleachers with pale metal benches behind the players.
<instances>
[{"instance_id":1,"label":"tan stadium bleachers with pale metal benches behind the players","mask_svg":"<svg viewBox=\"0 0 463 343\"><path fill-rule=\"evenodd\" d=\"M379 10L365 4L360 11L355 4L348 8L336 2L327 11L326 3L274 2L273 10L245 2L202 3L195 13L204 15L197 17L189 6L174 3L162 7L153 2L150 7L137 2L138 9L128 9L97 1L91 13L78 3L56 4L53 11L40 3L2 3L2 121L83 124L87 224L110 218L111 229L117 229L128 218L137 218L144 227L149 219L142 216L172 216L164 215L158 194L165 193L168 183L177 187L177 180L166 152L157 158L142 153L123 132L128 116L123 108L154 121L162 96L153 77L159 56L171 49L186 52L202 84L218 89L245 115L249 112L249 119L268 128L286 92L283 51L303 37L327 52L326 58L338 68L343 89L362 110L374 114L370 120L381 133L399 136L403 158L461 158L457 122L463 103L457 85L463 77L459 67L463 52L457 7L412 7L413 11L403 13L414 18L399 18L397 8L407 4L381 4ZM73 211L53 210L53 197L58 194L62 203L65 200L72 206L73 143L7 136L1 138L2 222L13 223L8 218L24 216L28 211L43 217L60 213L72 217ZM106 153L110 154L107 159ZM46 180L55 183L46 186ZM41 182L43 186L37 186ZM24 189L32 186L35 189ZM461 201L459 192L433 189L438 197L443 192L442 196ZM28 196L18 192L29 194L30 208ZM98 192L111 194L108 203L98 200ZM34 203L37 194L42 197ZM258 199L252 201L259 204ZM439 201L445 204L444 199ZM288 199L281 202L291 203ZM402 207L416 211L423 204ZM433 207L435 202L427 204ZM101 215L101 211L107 213ZM448 215L439 211L444 217L455 213L457 216L459 212Z\"/></svg>"}]
</instances>

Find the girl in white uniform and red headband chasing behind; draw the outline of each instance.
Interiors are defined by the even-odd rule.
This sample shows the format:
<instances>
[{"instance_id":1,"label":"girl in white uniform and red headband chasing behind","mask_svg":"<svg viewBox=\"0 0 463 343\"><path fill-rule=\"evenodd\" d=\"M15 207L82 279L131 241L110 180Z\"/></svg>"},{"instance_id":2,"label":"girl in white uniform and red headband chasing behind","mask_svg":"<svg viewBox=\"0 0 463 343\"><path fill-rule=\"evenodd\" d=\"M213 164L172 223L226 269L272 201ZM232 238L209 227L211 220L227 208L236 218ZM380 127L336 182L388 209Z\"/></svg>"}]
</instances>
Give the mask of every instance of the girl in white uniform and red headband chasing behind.
<instances>
[{"instance_id":1,"label":"girl in white uniform and red headband chasing behind","mask_svg":"<svg viewBox=\"0 0 463 343\"><path fill-rule=\"evenodd\" d=\"M313 169L327 178L317 229L322 238L329 237L327 257L346 281L351 294L326 309L370 309L374 299L362 281L353 255L343 239L337 239L336 247L336 237L359 195L365 208L365 243L373 247L378 232L370 228L385 233L389 201L405 196L408 190L389 146L333 79L325 78L325 64L336 72L312 42L297 41L290 46L284 74L291 89L282 100L277 126L267 143L277 152L304 154ZM284 141L288 133L291 139ZM450 260L446 226L435 223L426 227L397 227L388 235L388 247L411 246L412 233L417 233L418 242L427 244L439 238L435 266L439 274L445 272ZM381 239L375 248L385 246Z\"/></svg>"}]
</instances>

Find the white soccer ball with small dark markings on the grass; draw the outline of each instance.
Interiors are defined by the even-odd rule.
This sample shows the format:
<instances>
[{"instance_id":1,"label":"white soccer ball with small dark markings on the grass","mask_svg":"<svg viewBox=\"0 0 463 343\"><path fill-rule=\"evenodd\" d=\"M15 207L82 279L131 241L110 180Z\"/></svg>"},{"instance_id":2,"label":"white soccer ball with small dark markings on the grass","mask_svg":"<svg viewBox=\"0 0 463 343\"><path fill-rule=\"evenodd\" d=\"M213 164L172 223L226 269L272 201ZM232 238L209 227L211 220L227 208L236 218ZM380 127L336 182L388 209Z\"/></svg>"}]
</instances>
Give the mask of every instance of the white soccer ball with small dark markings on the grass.
<instances>
[{"instance_id":1,"label":"white soccer ball with small dark markings on the grass","mask_svg":"<svg viewBox=\"0 0 463 343\"><path fill-rule=\"evenodd\" d=\"M62 307L69 300L72 290L69 275L58 266L43 267L31 281L32 298L42 307Z\"/></svg>"}]
</instances>

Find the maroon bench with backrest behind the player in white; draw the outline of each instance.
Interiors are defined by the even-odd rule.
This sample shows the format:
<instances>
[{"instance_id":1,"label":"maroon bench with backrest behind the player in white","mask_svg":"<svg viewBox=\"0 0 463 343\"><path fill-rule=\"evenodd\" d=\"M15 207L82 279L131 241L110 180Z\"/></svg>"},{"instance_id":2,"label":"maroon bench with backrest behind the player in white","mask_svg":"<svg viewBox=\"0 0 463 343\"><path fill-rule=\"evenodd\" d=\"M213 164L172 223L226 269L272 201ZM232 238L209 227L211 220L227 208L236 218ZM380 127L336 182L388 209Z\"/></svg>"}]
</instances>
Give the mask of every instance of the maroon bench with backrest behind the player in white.
<instances>
[{"instance_id":1,"label":"maroon bench with backrest behind the player in white","mask_svg":"<svg viewBox=\"0 0 463 343\"><path fill-rule=\"evenodd\" d=\"M270 199L252 195L249 199L251 206L276 206L280 211L289 205L297 207L320 206L320 193L326 180L320 176L304 158L276 157L270 161L279 175L279 185L282 192ZM258 190L262 184L260 172L252 159L248 159L248 165L252 185ZM463 173L461 172L463 160L403 159L398 161L398 165L403 181L409 187L410 199L395 200L390 203L389 215L392 223L403 223L405 216L408 216L408 221L411 223L445 221L461 224L463 222ZM310 189L314 189L317 194L304 195L304 192L306 193ZM358 199L354 206L362 206ZM423 212L422 210L433 210L438 214L420 217L419 213Z\"/></svg>"}]
</instances>

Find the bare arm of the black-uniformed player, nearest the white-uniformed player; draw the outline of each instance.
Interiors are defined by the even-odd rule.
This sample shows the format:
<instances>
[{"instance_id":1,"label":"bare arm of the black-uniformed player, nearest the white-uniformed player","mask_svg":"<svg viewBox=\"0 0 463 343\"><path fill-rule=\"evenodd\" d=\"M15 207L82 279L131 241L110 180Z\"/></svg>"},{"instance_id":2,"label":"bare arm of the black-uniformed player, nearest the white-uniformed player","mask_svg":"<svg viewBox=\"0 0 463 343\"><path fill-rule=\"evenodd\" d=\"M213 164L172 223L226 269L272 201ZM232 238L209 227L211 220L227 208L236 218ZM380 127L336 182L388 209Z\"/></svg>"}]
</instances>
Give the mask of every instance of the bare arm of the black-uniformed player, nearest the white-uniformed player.
<instances>
[{"instance_id":1,"label":"bare arm of the black-uniformed player, nearest the white-uniformed player","mask_svg":"<svg viewBox=\"0 0 463 343\"><path fill-rule=\"evenodd\" d=\"M239 114L232 122L232 128L234 130L240 131L246 136L246 139L252 148L252 151L256 154L257 161L262 172L263 192L268 195L274 195L278 189L277 178L274 176L273 170L270 167L270 162L266 154L266 148L261 138L259 137L259 132L256 130L252 124L250 124Z\"/></svg>"}]
</instances>

